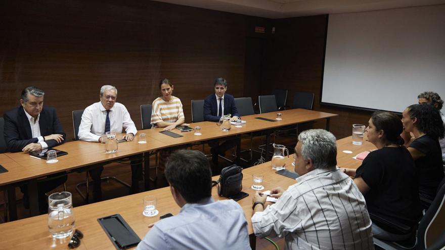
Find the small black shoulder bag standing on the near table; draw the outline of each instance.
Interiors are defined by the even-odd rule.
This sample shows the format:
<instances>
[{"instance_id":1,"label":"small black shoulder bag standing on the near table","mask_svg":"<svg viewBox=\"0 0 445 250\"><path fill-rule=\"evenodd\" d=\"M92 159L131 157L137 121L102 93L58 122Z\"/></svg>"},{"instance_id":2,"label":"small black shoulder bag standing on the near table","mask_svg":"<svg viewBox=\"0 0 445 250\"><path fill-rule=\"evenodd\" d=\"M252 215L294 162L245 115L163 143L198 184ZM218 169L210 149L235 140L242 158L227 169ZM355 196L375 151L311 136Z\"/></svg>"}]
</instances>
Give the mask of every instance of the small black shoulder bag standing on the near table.
<instances>
[{"instance_id":1,"label":"small black shoulder bag standing on the near table","mask_svg":"<svg viewBox=\"0 0 445 250\"><path fill-rule=\"evenodd\" d=\"M221 170L221 175L218 181L212 181L213 186L218 185L218 195L230 197L238 194L243 189L243 170L238 165L232 165Z\"/></svg>"}]
</instances>

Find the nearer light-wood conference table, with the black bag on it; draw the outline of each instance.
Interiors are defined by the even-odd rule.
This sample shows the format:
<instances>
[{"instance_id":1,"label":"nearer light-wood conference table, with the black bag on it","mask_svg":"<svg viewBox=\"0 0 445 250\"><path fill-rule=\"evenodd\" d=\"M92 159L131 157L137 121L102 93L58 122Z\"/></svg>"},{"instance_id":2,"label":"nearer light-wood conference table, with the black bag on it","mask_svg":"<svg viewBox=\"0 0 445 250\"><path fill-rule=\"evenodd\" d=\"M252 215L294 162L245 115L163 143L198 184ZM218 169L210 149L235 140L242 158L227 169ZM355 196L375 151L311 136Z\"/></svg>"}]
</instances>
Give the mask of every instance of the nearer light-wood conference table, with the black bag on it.
<instances>
[{"instance_id":1,"label":"nearer light-wood conference table, with the black bag on it","mask_svg":"<svg viewBox=\"0 0 445 250\"><path fill-rule=\"evenodd\" d=\"M361 161L352 159L355 155L364 151L376 149L370 142L364 141L362 145L353 145L351 136L337 140L337 165L346 168L358 168ZM352 153L343 153L350 151ZM286 160L286 168L293 171L293 157ZM257 166L252 166L243 170L243 191L249 194L238 201L243 208L247 223L250 242L252 248L255 247L255 236L251 225L252 217L252 196L256 192L251 188L253 184L253 174L263 174L263 190L271 190L274 187L281 186L287 189L289 185L296 183L292 178L288 178L275 173L271 162L266 162ZM213 180L218 176L212 177ZM226 199L219 197L216 186L212 187L212 197L218 201ZM157 197L156 208L159 211L158 216L145 217L143 211L143 197L154 195ZM75 228L79 229L84 237L78 249L115 249L111 240L105 234L97 219L113 214L120 214L128 225L142 239L148 232L148 225L159 220L159 216L171 213L176 215L180 212L173 197L170 194L169 187L159 188L137 194L127 195L119 198L110 199L94 204L88 204L74 208ZM68 249L68 240L53 239L48 231L48 216L41 215L30 217L18 221L0 224L0 248L10 249Z\"/></svg>"}]
</instances>

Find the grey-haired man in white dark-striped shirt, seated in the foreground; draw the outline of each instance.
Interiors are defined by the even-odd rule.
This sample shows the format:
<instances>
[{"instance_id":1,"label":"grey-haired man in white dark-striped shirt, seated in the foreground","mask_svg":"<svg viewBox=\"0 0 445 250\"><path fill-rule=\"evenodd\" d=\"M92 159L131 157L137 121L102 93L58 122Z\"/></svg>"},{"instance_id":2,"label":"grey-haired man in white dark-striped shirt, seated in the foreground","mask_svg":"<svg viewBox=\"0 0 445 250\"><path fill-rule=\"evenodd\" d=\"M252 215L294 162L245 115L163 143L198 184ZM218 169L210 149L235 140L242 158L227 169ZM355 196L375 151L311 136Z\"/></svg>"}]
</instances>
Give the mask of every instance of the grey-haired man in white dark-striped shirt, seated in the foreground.
<instances>
[{"instance_id":1,"label":"grey-haired man in white dark-striped shirt, seated in the foreground","mask_svg":"<svg viewBox=\"0 0 445 250\"><path fill-rule=\"evenodd\" d=\"M335 136L323 129L300 133L295 172L287 190L271 190L276 204L264 209L266 195L253 197L252 226L258 237L285 238L285 249L373 249L365 198L353 180L336 168Z\"/></svg>"}]
</instances>

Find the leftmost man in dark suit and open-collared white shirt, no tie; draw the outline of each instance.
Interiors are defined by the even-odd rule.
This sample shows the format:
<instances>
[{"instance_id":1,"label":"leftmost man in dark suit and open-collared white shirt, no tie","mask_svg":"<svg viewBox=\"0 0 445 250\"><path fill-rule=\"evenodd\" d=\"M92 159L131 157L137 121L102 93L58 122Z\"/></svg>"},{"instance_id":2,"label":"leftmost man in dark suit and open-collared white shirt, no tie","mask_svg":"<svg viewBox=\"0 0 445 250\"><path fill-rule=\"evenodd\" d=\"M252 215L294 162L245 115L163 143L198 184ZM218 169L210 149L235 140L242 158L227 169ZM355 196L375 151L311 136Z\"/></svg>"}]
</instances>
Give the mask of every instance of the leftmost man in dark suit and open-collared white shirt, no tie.
<instances>
[{"instance_id":1,"label":"leftmost man in dark suit and open-collared white shirt, no tie","mask_svg":"<svg viewBox=\"0 0 445 250\"><path fill-rule=\"evenodd\" d=\"M4 114L5 141L9 152L40 152L49 147L62 144L65 132L57 118L56 110L43 106L44 92L36 87L23 89L21 106ZM38 201L41 214L48 212L46 192L64 183L66 175L49 176L49 181L38 182ZM20 187L23 192L23 204L29 206L27 186Z\"/></svg>"}]
</instances>

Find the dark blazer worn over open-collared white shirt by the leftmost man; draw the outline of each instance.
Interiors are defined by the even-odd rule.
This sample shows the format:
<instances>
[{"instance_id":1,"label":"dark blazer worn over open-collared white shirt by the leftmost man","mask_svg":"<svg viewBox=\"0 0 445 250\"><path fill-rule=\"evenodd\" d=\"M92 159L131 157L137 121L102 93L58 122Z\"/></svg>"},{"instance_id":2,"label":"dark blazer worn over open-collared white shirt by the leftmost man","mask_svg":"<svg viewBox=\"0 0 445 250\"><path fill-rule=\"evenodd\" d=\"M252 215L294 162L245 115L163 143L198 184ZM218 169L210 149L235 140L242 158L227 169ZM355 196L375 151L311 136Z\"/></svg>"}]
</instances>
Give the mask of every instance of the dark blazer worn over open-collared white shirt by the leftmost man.
<instances>
[{"instance_id":1,"label":"dark blazer worn over open-collared white shirt by the leftmost man","mask_svg":"<svg viewBox=\"0 0 445 250\"><path fill-rule=\"evenodd\" d=\"M3 117L5 118L5 142L9 152L22 151L22 148L26 145L38 141L36 137L31 137L31 126L29 126L28 118L26 117L22 106L8 111ZM43 106L38 124L40 126L41 136L51 134L61 134L63 136L63 141L61 143L58 143L56 140L45 141L48 144L48 147L57 146L65 141L66 134L57 118L55 108Z\"/></svg>"}]
</instances>

